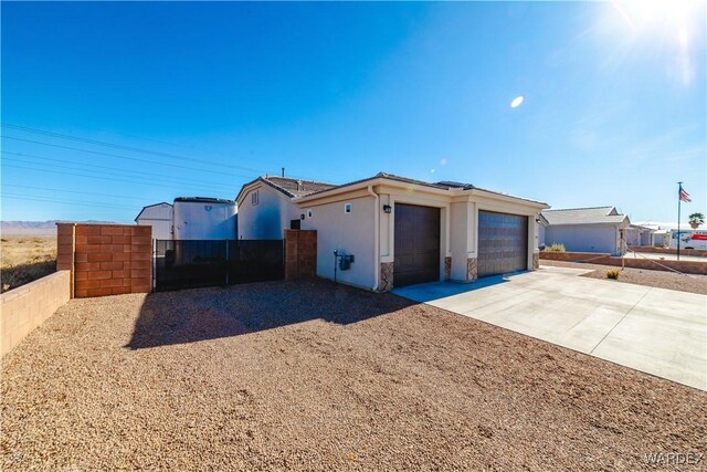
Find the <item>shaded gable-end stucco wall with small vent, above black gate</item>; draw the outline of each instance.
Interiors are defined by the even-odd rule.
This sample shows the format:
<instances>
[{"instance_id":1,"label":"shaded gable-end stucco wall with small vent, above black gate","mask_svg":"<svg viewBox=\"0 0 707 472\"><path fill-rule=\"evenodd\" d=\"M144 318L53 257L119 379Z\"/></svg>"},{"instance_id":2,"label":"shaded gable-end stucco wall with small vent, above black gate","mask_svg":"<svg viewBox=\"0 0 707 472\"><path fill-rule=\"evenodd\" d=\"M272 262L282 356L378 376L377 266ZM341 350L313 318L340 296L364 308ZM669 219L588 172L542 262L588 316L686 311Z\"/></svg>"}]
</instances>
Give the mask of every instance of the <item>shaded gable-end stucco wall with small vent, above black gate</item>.
<instances>
[{"instance_id":1,"label":"shaded gable-end stucco wall with small vent, above black gate","mask_svg":"<svg viewBox=\"0 0 707 472\"><path fill-rule=\"evenodd\" d=\"M257 204L251 202L254 191ZM289 221L300 213L287 196L258 183L246 191L239 204L239 239L283 239L283 230L289 229Z\"/></svg>"}]
</instances>

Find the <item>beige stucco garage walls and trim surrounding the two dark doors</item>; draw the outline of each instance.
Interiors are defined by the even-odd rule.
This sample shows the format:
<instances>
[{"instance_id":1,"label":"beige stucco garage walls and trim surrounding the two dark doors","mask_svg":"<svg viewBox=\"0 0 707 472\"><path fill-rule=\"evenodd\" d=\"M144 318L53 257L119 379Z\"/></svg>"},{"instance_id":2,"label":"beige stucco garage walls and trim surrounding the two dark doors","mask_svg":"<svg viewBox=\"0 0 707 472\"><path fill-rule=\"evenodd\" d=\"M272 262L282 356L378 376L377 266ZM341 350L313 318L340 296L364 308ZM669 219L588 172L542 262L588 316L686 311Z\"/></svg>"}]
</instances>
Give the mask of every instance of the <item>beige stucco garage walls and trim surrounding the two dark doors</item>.
<instances>
[{"instance_id":1,"label":"beige stucco garage walls and trim surrounding the two dark doors","mask_svg":"<svg viewBox=\"0 0 707 472\"><path fill-rule=\"evenodd\" d=\"M329 279L334 276L334 249L344 249L348 253L354 253L357 259L352 271L347 274L339 272L338 279L352 285L372 287L380 264L392 262L394 265L394 218L398 203L440 209L440 280L444 279L444 260L447 256L452 259L451 279L461 282L468 280L467 260L477 256L479 210L523 214L529 219L527 268L529 270L534 268L534 254L538 253L535 219L541 209L537 204L521 204L517 200L507 201L503 197L497 199L479 195L434 191L434 189L429 191L414 186L405 188L395 185L378 185L372 186L370 190L379 197L378 208L376 208L374 198L368 195L369 189L366 188L354 189L342 195L323 196L315 201L298 202L302 212L313 211L313 218L306 218L302 229L319 231L318 275ZM355 203L356 210L351 214L344 212L346 202ZM391 213L383 211L386 204L392 207ZM380 258L378 260L374 256L376 240L372 237L376 212L379 218Z\"/></svg>"}]
</instances>

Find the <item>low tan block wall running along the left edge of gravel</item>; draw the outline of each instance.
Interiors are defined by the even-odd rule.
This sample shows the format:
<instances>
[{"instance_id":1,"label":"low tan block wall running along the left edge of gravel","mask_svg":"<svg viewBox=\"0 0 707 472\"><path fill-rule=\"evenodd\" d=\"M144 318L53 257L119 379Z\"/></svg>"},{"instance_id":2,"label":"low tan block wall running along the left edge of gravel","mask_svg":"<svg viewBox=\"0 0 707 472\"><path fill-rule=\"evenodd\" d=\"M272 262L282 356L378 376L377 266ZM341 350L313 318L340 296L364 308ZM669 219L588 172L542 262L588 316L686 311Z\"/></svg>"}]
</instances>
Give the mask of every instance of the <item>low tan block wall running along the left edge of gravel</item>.
<instances>
[{"instance_id":1,"label":"low tan block wall running along the left edge of gravel","mask_svg":"<svg viewBox=\"0 0 707 472\"><path fill-rule=\"evenodd\" d=\"M63 270L0 295L0 352L4 356L70 300L71 272Z\"/></svg>"}]
</instances>

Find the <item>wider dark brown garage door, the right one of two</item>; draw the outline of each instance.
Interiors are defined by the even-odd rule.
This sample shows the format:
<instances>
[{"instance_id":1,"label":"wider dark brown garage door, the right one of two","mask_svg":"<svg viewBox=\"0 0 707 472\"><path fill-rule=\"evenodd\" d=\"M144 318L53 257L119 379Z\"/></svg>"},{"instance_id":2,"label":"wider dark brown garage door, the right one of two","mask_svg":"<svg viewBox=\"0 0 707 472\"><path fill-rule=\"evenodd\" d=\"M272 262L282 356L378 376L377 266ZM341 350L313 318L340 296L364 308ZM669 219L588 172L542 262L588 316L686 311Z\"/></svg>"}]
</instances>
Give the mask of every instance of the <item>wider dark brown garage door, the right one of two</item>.
<instances>
[{"instance_id":1,"label":"wider dark brown garage door, the right one of two","mask_svg":"<svg viewBox=\"0 0 707 472\"><path fill-rule=\"evenodd\" d=\"M528 269L528 217L478 212L478 276Z\"/></svg>"}]
</instances>

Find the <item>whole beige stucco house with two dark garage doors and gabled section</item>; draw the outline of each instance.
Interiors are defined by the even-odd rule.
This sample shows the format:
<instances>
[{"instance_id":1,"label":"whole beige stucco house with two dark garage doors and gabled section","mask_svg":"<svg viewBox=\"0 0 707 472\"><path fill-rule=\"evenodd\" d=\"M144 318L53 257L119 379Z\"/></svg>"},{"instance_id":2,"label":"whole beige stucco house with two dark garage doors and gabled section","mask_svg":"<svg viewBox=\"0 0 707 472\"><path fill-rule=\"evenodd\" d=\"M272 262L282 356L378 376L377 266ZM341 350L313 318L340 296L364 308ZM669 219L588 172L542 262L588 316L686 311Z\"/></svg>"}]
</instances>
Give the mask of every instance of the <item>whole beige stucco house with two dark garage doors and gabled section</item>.
<instances>
[{"instance_id":1,"label":"whole beige stucco house with two dark garage doors and gabled section","mask_svg":"<svg viewBox=\"0 0 707 472\"><path fill-rule=\"evenodd\" d=\"M347 270L338 270L339 282L377 291L440 280L471 282L538 265L535 221L548 208L544 202L382 172L315 191L307 182L286 192L271 183L272 178L260 178L239 193L240 237L282 238L283 229L299 220L300 229L317 230L321 277L334 279L340 268L335 250L354 256ZM288 200L274 193L261 206L272 189ZM254 191L258 202L250 204ZM246 228L258 224L265 228Z\"/></svg>"}]
</instances>

